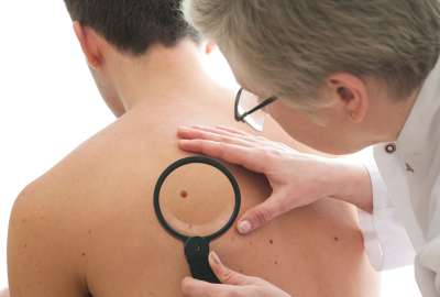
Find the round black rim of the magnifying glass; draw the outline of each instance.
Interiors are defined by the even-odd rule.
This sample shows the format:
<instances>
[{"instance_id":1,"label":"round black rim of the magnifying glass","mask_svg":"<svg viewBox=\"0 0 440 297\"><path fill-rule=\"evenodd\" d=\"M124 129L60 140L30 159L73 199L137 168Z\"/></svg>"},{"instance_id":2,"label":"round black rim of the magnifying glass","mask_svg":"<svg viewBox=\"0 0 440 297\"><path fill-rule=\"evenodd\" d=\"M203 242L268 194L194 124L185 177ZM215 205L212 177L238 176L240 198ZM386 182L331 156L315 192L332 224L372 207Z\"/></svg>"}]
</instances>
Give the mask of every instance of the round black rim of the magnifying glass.
<instances>
[{"instance_id":1,"label":"round black rim of the magnifying glass","mask_svg":"<svg viewBox=\"0 0 440 297\"><path fill-rule=\"evenodd\" d=\"M229 221L227 222L227 224L224 224L221 229L219 229L219 231L208 235L208 237L201 237L204 239L206 239L208 242L221 237L222 234L224 234L234 223L235 219L239 216L240 212L240 207L241 207L241 193L240 193L240 187L239 184L237 183L235 177L232 175L232 173L220 162L210 158L210 157L206 157L206 156L190 156L190 157L185 157L182 160L176 161L175 163L173 163L172 165L169 165L160 176L160 178L157 179L156 186L154 188L154 211L156 212L156 217L160 221L160 223L162 224L162 227L174 238L186 242L189 238L191 237L186 237L184 234L180 234L179 232L177 232L176 230L174 230L165 220L162 210L161 210L161 205L160 205L160 196L161 196L161 189L162 186L165 183L165 179L177 168L180 168L185 165L188 164L206 164L206 165L210 165L216 167L217 169L219 169L221 173L223 173L229 182L231 183L231 186L233 188L234 195L235 195L235 206L234 206L234 210L231 215L231 218L229 219Z\"/></svg>"}]
</instances>

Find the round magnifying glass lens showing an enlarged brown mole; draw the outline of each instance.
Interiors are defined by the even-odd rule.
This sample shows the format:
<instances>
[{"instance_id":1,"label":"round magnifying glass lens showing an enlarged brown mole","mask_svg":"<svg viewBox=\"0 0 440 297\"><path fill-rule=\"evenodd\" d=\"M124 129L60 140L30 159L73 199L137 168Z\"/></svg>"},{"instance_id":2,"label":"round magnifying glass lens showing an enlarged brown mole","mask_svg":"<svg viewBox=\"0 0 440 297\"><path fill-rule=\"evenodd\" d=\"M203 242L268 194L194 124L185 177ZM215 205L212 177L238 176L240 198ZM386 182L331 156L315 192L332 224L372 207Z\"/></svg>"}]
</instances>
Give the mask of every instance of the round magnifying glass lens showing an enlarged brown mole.
<instances>
[{"instance_id":1,"label":"round magnifying glass lens showing an enlarged brown mole","mask_svg":"<svg viewBox=\"0 0 440 297\"><path fill-rule=\"evenodd\" d=\"M165 221L185 237L208 237L228 223L235 195L228 177L213 166L193 163L172 172L158 202Z\"/></svg>"}]
</instances>

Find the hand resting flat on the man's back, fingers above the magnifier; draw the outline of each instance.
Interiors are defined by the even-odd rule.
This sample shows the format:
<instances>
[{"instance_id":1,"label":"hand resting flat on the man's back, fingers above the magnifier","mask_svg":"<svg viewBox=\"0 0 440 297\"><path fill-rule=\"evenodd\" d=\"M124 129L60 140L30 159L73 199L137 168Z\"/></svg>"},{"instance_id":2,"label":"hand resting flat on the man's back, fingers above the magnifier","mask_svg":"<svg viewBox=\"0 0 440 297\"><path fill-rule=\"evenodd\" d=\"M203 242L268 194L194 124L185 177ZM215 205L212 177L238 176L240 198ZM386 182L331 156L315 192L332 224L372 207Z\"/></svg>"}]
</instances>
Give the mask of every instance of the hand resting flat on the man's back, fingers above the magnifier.
<instances>
[{"instance_id":1,"label":"hand resting flat on the man's back, fingers above the magnifier","mask_svg":"<svg viewBox=\"0 0 440 297\"><path fill-rule=\"evenodd\" d=\"M272 195L246 211L238 230L246 234L274 218L322 198L337 198L372 211L367 170L358 164L298 151L230 128L180 128L179 147L264 174Z\"/></svg>"}]
</instances>

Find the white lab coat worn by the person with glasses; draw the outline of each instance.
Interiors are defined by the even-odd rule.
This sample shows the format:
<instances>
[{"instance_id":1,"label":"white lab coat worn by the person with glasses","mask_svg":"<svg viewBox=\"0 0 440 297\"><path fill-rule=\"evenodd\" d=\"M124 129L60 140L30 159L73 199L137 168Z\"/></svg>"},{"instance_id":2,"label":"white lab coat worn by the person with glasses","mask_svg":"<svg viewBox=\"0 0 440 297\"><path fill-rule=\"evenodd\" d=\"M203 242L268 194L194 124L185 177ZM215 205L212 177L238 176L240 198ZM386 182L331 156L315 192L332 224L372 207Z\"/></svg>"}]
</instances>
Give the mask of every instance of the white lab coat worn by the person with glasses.
<instances>
[{"instance_id":1,"label":"white lab coat worn by the person with glasses","mask_svg":"<svg viewBox=\"0 0 440 297\"><path fill-rule=\"evenodd\" d=\"M424 297L440 297L440 61L396 143L376 145L374 158L374 210L360 216L371 263L414 263Z\"/></svg>"}]
</instances>

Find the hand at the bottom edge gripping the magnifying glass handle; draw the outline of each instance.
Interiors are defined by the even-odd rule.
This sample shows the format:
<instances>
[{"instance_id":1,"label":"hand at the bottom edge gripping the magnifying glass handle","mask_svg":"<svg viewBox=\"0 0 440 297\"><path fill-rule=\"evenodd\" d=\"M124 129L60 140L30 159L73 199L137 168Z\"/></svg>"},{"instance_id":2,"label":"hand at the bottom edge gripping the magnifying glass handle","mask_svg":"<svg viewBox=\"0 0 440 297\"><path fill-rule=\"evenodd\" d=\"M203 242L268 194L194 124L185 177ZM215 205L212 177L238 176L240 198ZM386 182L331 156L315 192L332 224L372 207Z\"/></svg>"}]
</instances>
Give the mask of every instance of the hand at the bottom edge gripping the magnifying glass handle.
<instances>
[{"instance_id":1,"label":"hand at the bottom edge gripping the magnifying glass handle","mask_svg":"<svg viewBox=\"0 0 440 297\"><path fill-rule=\"evenodd\" d=\"M274 285L245 276L226 267L216 253L210 253L209 264L222 284L210 284L187 277L182 290L187 297L290 297Z\"/></svg>"}]
</instances>

